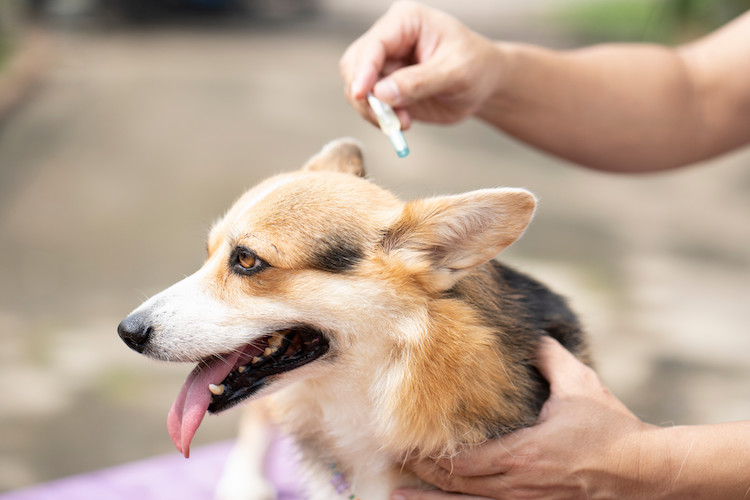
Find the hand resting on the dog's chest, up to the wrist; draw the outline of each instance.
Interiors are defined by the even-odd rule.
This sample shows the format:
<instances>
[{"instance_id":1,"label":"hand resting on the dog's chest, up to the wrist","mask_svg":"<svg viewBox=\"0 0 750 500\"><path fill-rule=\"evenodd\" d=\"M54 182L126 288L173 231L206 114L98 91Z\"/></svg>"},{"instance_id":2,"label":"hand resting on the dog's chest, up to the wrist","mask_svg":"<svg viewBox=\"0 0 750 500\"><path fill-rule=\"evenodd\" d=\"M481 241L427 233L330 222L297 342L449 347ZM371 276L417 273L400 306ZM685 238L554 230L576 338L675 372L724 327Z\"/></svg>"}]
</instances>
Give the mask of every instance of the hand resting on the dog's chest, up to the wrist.
<instances>
[{"instance_id":1,"label":"hand resting on the dog's chest, up to the wrist","mask_svg":"<svg viewBox=\"0 0 750 500\"><path fill-rule=\"evenodd\" d=\"M645 445L658 429L641 422L596 373L544 338L537 367L551 395L539 422L467 449L457 457L408 467L446 492L400 489L393 500L652 498L663 458Z\"/></svg>"}]
</instances>

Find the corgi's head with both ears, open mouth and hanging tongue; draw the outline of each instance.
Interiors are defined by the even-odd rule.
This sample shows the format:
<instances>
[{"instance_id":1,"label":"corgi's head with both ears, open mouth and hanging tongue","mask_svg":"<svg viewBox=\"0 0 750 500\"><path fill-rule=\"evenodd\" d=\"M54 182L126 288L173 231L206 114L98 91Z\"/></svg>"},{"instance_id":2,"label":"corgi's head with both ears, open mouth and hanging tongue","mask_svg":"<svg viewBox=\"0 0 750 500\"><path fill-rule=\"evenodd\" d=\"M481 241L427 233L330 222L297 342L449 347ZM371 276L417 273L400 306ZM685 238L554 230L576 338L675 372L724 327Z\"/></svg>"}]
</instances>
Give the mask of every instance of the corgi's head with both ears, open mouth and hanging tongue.
<instances>
[{"instance_id":1,"label":"corgi's head with both ears, open mouth and hanging tongue","mask_svg":"<svg viewBox=\"0 0 750 500\"><path fill-rule=\"evenodd\" d=\"M195 274L120 323L132 349L198 363L169 417L185 454L206 410L333 367L347 376L373 335L387 355L383 339L515 241L535 206L520 189L404 204L363 176L360 148L341 139L262 182L211 229Z\"/></svg>"}]
</instances>

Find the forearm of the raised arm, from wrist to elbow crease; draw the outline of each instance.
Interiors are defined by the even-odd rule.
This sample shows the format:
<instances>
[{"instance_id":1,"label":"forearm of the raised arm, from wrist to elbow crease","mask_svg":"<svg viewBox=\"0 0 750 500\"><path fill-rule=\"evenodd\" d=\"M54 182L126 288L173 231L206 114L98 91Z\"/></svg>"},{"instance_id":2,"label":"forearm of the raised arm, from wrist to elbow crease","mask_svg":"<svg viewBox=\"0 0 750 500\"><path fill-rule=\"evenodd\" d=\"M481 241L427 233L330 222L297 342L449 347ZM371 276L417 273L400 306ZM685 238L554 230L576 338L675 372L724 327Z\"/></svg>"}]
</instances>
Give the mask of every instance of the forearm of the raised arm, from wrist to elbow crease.
<instances>
[{"instance_id":1,"label":"forearm of the raised arm, from wrist to elbow crease","mask_svg":"<svg viewBox=\"0 0 750 500\"><path fill-rule=\"evenodd\" d=\"M616 171L659 170L714 154L695 88L672 49L496 47L507 70L479 116L532 146Z\"/></svg>"}]
</instances>

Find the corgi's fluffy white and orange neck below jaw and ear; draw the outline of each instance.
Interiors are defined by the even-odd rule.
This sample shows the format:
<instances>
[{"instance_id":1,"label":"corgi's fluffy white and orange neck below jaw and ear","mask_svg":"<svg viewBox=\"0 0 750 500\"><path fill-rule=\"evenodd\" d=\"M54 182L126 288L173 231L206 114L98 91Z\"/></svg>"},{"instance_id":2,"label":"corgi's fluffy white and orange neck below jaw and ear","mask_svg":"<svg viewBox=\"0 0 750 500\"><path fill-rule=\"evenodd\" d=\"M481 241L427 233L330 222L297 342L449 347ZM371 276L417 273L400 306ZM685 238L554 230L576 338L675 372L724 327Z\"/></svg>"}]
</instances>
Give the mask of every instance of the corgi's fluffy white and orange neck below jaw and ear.
<instances>
[{"instance_id":1,"label":"corgi's fluffy white and orange neck below jaw and ear","mask_svg":"<svg viewBox=\"0 0 750 500\"><path fill-rule=\"evenodd\" d=\"M377 456L385 466L417 451L451 455L495 432L477 422L497 422L482 412L515 392L496 332L451 299L431 301L408 318L373 325L368 335L386 335L389 342L372 342L365 352L368 335L358 332L362 345L338 354L335 373L275 396L281 421L302 443L329 450L329 463ZM464 381L475 378L483 383L467 388ZM511 405L502 410L504 418L522 419Z\"/></svg>"}]
</instances>

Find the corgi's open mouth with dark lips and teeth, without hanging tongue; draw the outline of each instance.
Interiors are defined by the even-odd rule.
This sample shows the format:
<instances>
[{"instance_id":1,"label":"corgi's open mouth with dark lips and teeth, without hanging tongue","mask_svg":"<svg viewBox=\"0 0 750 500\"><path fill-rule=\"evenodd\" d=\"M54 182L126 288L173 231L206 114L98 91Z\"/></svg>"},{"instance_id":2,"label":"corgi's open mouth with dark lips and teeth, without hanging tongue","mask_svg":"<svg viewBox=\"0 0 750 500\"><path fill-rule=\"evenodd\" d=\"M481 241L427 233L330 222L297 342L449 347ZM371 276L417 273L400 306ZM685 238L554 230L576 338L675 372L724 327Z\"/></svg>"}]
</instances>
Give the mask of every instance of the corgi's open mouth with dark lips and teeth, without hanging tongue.
<instances>
[{"instance_id":1,"label":"corgi's open mouth with dark lips and teeth, without hanging tongue","mask_svg":"<svg viewBox=\"0 0 750 500\"><path fill-rule=\"evenodd\" d=\"M312 328L275 332L248 345L221 384L210 384L209 413L219 413L255 394L268 377L318 359L328 351L328 340Z\"/></svg>"}]
</instances>

